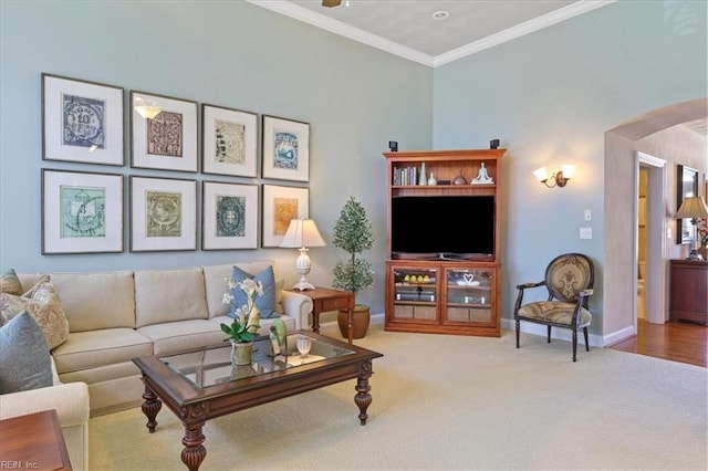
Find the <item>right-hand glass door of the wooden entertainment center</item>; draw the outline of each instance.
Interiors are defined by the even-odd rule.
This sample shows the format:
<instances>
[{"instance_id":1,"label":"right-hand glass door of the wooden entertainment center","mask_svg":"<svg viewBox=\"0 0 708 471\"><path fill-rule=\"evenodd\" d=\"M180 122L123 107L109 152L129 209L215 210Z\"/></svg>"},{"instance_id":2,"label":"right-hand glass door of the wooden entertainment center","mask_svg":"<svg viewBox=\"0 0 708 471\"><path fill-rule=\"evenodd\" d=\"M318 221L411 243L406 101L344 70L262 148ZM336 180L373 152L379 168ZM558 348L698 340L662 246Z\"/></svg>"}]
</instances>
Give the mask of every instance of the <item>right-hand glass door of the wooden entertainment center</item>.
<instances>
[{"instance_id":1,"label":"right-hand glass door of the wooden entertainment center","mask_svg":"<svg viewBox=\"0 0 708 471\"><path fill-rule=\"evenodd\" d=\"M445 323L491 323L492 269L447 269Z\"/></svg>"}]
</instances>

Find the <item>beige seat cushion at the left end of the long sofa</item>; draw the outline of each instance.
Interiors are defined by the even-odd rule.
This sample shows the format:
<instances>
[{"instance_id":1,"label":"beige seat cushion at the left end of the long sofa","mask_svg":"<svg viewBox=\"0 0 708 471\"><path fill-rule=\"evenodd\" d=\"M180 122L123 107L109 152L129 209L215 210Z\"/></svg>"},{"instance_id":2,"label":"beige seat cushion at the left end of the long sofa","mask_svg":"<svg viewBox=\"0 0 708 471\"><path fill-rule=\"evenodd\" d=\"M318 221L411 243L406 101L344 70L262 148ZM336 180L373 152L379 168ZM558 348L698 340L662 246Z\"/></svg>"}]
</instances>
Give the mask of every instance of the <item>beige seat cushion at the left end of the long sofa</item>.
<instances>
[{"instance_id":1,"label":"beige seat cushion at the left end of the long sofa","mask_svg":"<svg viewBox=\"0 0 708 471\"><path fill-rule=\"evenodd\" d=\"M153 355L153 342L125 327L72 333L63 345L52 352L60 376L148 355Z\"/></svg>"}]
</instances>

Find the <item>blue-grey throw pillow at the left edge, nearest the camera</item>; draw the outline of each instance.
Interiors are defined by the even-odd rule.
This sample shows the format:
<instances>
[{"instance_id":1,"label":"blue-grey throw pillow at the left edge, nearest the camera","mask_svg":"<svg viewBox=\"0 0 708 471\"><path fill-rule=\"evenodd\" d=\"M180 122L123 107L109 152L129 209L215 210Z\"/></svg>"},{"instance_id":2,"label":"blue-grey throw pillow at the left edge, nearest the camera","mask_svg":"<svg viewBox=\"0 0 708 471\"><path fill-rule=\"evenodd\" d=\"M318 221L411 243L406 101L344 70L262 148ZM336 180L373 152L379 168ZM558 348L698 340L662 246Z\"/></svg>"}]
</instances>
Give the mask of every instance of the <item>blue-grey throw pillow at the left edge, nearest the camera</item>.
<instances>
[{"instance_id":1,"label":"blue-grey throw pillow at the left edge, nearest the camera","mask_svg":"<svg viewBox=\"0 0 708 471\"><path fill-rule=\"evenodd\" d=\"M0 394L52 386L52 360L37 321L21 312L0 327Z\"/></svg>"}]
</instances>

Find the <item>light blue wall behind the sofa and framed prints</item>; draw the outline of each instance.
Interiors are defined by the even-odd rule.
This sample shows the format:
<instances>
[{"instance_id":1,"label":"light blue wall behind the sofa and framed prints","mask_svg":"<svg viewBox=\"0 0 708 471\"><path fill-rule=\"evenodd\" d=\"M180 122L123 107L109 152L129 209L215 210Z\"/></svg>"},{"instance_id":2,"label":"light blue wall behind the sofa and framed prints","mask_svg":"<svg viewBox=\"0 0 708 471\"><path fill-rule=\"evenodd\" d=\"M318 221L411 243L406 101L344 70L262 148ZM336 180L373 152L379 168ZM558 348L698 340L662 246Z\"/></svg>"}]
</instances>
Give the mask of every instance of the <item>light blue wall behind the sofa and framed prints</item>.
<instances>
[{"instance_id":1,"label":"light blue wall behind the sofa and framed prints","mask_svg":"<svg viewBox=\"0 0 708 471\"><path fill-rule=\"evenodd\" d=\"M41 168L261 181L127 165L43 161L40 74L48 72L125 87L126 103L128 91L137 90L310 123L310 216L330 242L346 199L355 196L363 202L375 226L377 244L367 255L377 273L376 286L362 293L361 301L371 303L373 312L383 312L386 167L382 151L391 139L398 140L402 149L430 148L429 67L241 1L3 0L0 18L3 271L173 268L271 258L282 262L289 283L296 280L294 250L129 253L127 179L126 252L41 255ZM125 126L129 149L127 119ZM331 244L313 249L310 279L330 285L332 266L344 257Z\"/></svg>"}]
</instances>

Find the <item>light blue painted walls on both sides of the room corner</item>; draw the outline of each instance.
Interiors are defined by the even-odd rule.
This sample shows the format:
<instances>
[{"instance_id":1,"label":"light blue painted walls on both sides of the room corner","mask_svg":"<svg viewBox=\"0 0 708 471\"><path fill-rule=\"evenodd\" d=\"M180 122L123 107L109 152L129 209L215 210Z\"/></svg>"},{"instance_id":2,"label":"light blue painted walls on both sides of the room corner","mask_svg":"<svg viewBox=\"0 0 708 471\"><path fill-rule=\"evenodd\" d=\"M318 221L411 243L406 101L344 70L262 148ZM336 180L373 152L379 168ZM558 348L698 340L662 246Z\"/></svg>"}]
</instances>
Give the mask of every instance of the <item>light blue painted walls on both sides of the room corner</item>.
<instances>
[{"instance_id":1,"label":"light blue painted walls on both sides of the room corner","mask_svg":"<svg viewBox=\"0 0 708 471\"><path fill-rule=\"evenodd\" d=\"M0 8L2 270L170 268L272 258L289 282L295 280L296 253L284 249L127 252L127 185L126 252L41 255L41 168L244 181L43 161L42 72L123 86L126 98L129 90L139 90L310 123L310 213L329 242L350 195L366 207L376 230L369 259L377 273L376 286L360 297L375 313L384 310L381 153L387 142L409 150L485 148L501 139L509 149L502 174L507 318L513 286L540 279L542 266L561 251L589 253L602 280L605 130L708 94L702 1L621 1L436 70L238 1L3 0ZM125 145L129 149L127 133ZM542 165L556 169L563 163L577 165L564 189L546 189L531 175ZM593 221L583 221L584 209L593 211ZM592 227L593 240L579 240L581 226ZM313 249L311 257L310 279L329 285L331 268L343 254L330 245ZM595 310L601 300L602 285ZM593 329L601 327L602 320Z\"/></svg>"}]
</instances>

